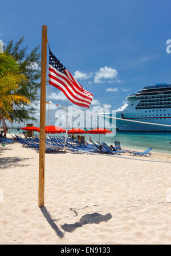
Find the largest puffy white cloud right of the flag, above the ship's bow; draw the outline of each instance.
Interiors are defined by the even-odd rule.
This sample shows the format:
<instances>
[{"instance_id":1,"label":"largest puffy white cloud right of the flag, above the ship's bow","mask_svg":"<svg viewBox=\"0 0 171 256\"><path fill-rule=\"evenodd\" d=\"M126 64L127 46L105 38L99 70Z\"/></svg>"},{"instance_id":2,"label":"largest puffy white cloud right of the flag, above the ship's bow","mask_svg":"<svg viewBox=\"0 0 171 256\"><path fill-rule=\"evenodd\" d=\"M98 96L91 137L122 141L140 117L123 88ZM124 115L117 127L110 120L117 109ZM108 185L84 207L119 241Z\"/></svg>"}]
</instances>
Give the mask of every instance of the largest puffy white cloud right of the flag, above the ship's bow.
<instances>
[{"instance_id":1,"label":"largest puffy white cloud right of the flag, above the ship's bow","mask_svg":"<svg viewBox=\"0 0 171 256\"><path fill-rule=\"evenodd\" d=\"M112 79L117 77L117 71L116 69L112 69L112 67L100 67L99 72L95 72L95 83L103 83L105 81L101 81L102 78L104 79Z\"/></svg>"}]
</instances>

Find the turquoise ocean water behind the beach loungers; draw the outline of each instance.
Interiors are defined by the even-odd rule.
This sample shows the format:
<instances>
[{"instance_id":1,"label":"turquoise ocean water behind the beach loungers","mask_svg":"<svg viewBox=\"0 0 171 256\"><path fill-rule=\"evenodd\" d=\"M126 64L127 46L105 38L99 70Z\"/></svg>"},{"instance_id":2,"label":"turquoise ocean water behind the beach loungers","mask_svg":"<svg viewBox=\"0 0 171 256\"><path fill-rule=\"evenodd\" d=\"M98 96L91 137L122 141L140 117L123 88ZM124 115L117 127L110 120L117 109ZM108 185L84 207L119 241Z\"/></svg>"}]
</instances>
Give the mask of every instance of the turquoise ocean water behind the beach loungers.
<instances>
[{"instance_id":1,"label":"turquoise ocean water behind the beach loungers","mask_svg":"<svg viewBox=\"0 0 171 256\"><path fill-rule=\"evenodd\" d=\"M22 130L10 130L11 133L23 134ZM39 134L39 133L35 133ZM59 135L60 134L56 134ZM62 134L63 136L65 134ZM84 135L86 141L91 136L92 141L106 142L109 145L114 145L114 141L120 141L121 147L128 149L145 150L153 147L153 151L161 153L171 153L171 133L168 132L135 132L135 131L117 131L115 136L108 137L105 134L80 134ZM48 135L47 135L48 136Z\"/></svg>"}]
</instances>

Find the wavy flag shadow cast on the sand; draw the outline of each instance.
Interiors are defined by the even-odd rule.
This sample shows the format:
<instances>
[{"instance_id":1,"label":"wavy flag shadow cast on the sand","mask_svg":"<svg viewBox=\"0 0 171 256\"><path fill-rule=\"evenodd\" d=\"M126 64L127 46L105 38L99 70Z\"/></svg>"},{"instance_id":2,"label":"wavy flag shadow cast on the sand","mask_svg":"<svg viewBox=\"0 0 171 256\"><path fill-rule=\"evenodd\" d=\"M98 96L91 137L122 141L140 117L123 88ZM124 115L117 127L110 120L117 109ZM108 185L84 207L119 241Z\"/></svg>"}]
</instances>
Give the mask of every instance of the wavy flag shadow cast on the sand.
<instances>
[{"instance_id":1,"label":"wavy flag shadow cast on the sand","mask_svg":"<svg viewBox=\"0 0 171 256\"><path fill-rule=\"evenodd\" d=\"M78 227L82 227L83 225L87 224L99 224L101 221L109 221L112 218L110 213L102 215L100 213L92 213L92 214L85 214L82 218L80 218L79 222L75 222L74 224L67 224L65 223L62 225L62 229L67 232L72 232Z\"/></svg>"}]
</instances>

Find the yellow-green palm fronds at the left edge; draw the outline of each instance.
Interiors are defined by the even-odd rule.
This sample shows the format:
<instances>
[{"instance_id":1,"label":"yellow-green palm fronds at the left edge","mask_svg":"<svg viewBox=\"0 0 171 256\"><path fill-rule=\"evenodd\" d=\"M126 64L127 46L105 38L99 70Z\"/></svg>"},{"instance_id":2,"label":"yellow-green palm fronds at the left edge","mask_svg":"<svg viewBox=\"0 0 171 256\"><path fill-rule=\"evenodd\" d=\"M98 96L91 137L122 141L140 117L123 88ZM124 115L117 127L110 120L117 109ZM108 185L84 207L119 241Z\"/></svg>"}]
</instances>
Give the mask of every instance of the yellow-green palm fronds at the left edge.
<instances>
[{"instance_id":1,"label":"yellow-green palm fronds at the left edge","mask_svg":"<svg viewBox=\"0 0 171 256\"><path fill-rule=\"evenodd\" d=\"M19 84L27 81L25 75L19 72L19 65L15 59L6 53L0 53L0 118L12 122L14 104L30 100L18 94Z\"/></svg>"}]
</instances>

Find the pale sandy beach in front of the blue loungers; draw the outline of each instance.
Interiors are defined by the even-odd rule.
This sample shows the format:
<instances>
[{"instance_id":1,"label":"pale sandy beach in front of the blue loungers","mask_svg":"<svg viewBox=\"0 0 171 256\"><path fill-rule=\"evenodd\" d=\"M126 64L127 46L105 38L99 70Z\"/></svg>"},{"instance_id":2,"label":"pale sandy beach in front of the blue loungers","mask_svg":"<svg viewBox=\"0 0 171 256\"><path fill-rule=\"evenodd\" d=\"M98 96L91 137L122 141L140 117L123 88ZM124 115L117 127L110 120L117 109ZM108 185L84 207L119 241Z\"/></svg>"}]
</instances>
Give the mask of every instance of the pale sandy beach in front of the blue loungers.
<instances>
[{"instance_id":1,"label":"pale sandy beach in front of the blue loungers","mask_svg":"<svg viewBox=\"0 0 171 256\"><path fill-rule=\"evenodd\" d=\"M18 142L0 151L1 244L171 243L169 155L48 153L41 209L38 159Z\"/></svg>"}]
</instances>

